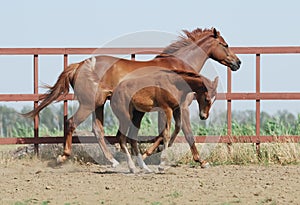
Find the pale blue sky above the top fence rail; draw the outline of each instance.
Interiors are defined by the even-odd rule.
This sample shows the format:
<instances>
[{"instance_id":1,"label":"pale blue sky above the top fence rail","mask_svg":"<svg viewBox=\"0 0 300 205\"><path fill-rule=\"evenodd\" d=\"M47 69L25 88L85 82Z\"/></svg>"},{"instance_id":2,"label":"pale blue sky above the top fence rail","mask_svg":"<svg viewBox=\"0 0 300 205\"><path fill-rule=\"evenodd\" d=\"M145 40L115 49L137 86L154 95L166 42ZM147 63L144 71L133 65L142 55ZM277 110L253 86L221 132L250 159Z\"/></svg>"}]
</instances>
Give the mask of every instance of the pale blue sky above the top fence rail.
<instances>
[{"instance_id":1,"label":"pale blue sky above the top fence rail","mask_svg":"<svg viewBox=\"0 0 300 205\"><path fill-rule=\"evenodd\" d=\"M142 30L218 28L232 46L296 45L297 1L1 1L0 45L101 45Z\"/></svg>"}]
</instances>

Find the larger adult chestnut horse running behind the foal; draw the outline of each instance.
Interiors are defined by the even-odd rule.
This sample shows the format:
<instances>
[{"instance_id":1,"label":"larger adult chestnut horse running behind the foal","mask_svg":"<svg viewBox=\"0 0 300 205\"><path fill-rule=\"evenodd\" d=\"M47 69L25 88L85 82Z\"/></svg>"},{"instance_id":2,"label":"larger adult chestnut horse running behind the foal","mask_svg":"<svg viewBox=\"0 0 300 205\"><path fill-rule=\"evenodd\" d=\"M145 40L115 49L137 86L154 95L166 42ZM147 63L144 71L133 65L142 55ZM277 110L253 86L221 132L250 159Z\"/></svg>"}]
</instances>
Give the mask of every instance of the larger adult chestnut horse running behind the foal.
<instances>
[{"instance_id":1,"label":"larger adult chestnut horse running behind the foal","mask_svg":"<svg viewBox=\"0 0 300 205\"><path fill-rule=\"evenodd\" d=\"M241 65L240 59L215 28L204 30L197 28L191 32L183 30L183 34L177 41L171 43L163 49L162 53L149 61L134 61L106 55L91 57L69 65L59 75L56 83L49 86L48 91L40 97L40 104L23 115L25 117L38 115L46 106L67 95L69 85L71 85L78 99L79 108L66 122L64 151L62 156L58 156L57 161L63 163L68 159L71 155L74 130L93 113L95 115L93 131L98 138L100 148L112 166L116 166L118 162L108 150L104 140L103 110L109 95L109 92L103 91L104 88L109 88L107 91L115 88L127 74L147 66L195 70L199 73L208 58L230 67L232 71L238 70ZM195 146L189 123L188 106L192 100L193 95L188 95L187 100L182 105L182 130L190 145L193 159L200 162L199 152ZM159 125L161 124L159 123Z\"/></svg>"}]
</instances>

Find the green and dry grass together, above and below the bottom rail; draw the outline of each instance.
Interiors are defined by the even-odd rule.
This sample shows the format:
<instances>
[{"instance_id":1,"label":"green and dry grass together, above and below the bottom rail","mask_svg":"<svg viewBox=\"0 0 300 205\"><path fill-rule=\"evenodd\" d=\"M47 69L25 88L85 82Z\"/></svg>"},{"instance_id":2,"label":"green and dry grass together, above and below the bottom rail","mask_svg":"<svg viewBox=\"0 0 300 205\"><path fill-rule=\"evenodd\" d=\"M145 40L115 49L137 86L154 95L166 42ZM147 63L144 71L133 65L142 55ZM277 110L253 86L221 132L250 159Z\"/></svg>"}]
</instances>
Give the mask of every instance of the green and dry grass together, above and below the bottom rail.
<instances>
[{"instance_id":1,"label":"green and dry grass together, above and below the bottom rail","mask_svg":"<svg viewBox=\"0 0 300 205\"><path fill-rule=\"evenodd\" d=\"M4 137L33 137L33 124L32 121L28 119L17 118L16 115L12 114L13 111L7 107L0 107L3 113L6 113L7 126L2 126L2 133L9 133L9 136ZM109 106L107 107L109 108ZM47 117L49 113L53 111L48 110L44 113L44 117ZM47 115L46 115L47 114ZM106 135L115 135L118 129L118 122L116 118L111 114L111 111L106 110L105 113L105 133ZM200 121L199 119L192 119L191 126L194 135L206 136L225 136L227 135L227 123L226 123L226 113L217 114L218 117L214 116L215 120L212 121ZM225 117L224 117L225 116ZM42 117L41 117L42 118ZM53 117L52 117L53 118ZM10 120L8 120L10 119ZM216 121L216 119L218 121ZM234 136L253 136L256 134L255 130L255 112L245 111L245 112L233 112L232 115L232 135ZM10 123L9 123L10 122ZM63 130L58 128L59 126L46 126L45 123L51 123L51 121L44 120L39 127L40 136L62 136ZM60 123L61 124L61 123ZM174 123L172 123L172 130L174 129ZM51 128L50 128L51 127ZM5 128L5 129L4 129ZM9 128L9 129L8 129ZM91 131L91 118L80 125L78 130ZM171 130L171 131L172 131ZM5 131L5 132L4 132ZM1 132L0 132L1 134ZM300 135L300 114L294 116L288 112L278 112L277 114L270 116L266 113L261 113L261 135ZM157 136L157 113L147 113L142 120L141 129L139 135L147 136ZM183 133L180 132L181 136ZM1 145L0 152L6 152L11 149L16 149L22 145ZM145 149L148 145L141 145L141 149ZM260 146L260 152L257 153L255 144L242 144L235 143L230 147L227 144L200 144L199 150L201 151L201 156L210 161L214 165L222 164L299 164L300 163L300 143L262 143ZM204 148L203 148L204 147ZM203 149L202 149L203 148ZM81 154L86 148L78 150L77 154L74 154L76 159L81 161L91 160L92 157L87 156L87 154ZM97 149L99 149L97 147ZM55 153L54 153L55 152ZM55 157L61 154L62 148L53 147L50 150L41 153L43 157L51 156ZM1 154L1 153L0 153ZM3 154L2 154L3 155ZM172 155L172 153L170 153ZM189 149L187 149L186 154L180 153L180 158L178 153L173 153L171 157L177 160L177 163L186 163L190 166L197 166L194 163L190 154ZM181 156L182 155L182 156ZM1 156L0 156L1 157ZM2 156L3 158L3 156ZM84 160L83 160L84 159Z\"/></svg>"}]
</instances>

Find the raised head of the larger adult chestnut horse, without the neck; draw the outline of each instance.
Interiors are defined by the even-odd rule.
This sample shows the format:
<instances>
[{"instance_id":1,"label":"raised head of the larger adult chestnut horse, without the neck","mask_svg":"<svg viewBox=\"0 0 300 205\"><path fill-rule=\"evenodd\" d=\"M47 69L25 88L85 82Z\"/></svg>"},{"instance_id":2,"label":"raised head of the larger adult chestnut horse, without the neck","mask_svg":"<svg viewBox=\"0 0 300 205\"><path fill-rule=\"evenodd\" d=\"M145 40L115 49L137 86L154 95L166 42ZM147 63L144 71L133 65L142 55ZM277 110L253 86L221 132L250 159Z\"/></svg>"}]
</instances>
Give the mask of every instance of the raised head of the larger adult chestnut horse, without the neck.
<instances>
[{"instance_id":1,"label":"raised head of the larger adult chestnut horse, without the neck","mask_svg":"<svg viewBox=\"0 0 300 205\"><path fill-rule=\"evenodd\" d=\"M209 53L209 57L220 62L221 64L228 66L232 71L236 71L240 68L241 61L235 55L235 53L229 48L224 38L220 35L220 32L215 28L212 29L213 43Z\"/></svg>"}]
</instances>

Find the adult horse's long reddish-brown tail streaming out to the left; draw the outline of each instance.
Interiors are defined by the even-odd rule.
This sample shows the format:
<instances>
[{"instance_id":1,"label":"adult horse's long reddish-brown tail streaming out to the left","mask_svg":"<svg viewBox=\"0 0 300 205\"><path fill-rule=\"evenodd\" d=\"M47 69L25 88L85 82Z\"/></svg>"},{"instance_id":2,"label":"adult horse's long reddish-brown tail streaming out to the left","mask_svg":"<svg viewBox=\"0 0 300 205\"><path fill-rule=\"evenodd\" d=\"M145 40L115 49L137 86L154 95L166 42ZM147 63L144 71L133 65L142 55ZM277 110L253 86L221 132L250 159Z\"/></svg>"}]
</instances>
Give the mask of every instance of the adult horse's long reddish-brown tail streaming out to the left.
<instances>
[{"instance_id":1,"label":"adult horse's long reddish-brown tail streaming out to the left","mask_svg":"<svg viewBox=\"0 0 300 205\"><path fill-rule=\"evenodd\" d=\"M54 86L45 86L49 90L40 97L39 100L42 100L41 103L28 113L22 114L24 117L34 117L39 112L51 104L53 101L56 101L59 97L65 97L69 92L69 85L73 83L75 78L75 73L78 67L82 63L70 64L58 77Z\"/></svg>"}]
</instances>

